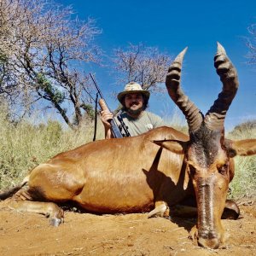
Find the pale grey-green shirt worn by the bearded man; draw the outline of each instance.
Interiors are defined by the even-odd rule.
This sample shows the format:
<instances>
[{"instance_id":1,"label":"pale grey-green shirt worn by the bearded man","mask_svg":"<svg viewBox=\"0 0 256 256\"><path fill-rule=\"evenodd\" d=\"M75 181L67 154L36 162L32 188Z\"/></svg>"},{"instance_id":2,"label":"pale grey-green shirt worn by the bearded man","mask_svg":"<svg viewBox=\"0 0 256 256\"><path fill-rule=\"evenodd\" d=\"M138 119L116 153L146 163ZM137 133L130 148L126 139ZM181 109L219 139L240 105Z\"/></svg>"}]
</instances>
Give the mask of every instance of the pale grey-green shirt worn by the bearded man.
<instances>
[{"instance_id":1,"label":"pale grey-green shirt worn by the bearded man","mask_svg":"<svg viewBox=\"0 0 256 256\"><path fill-rule=\"evenodd\" d=\"M126 112L120 113L119 116L123 119L128 131L131 134L131 137L165 125L165 122L160 118L160 116L148 111L143 111L143 113L137 119L132 118ZM120 125L119 119L117 117L114 117L114 119L117 124ZM124 133L123 130L122 133Z\"/></svg>"}]
</instances>

